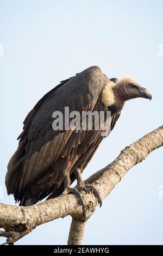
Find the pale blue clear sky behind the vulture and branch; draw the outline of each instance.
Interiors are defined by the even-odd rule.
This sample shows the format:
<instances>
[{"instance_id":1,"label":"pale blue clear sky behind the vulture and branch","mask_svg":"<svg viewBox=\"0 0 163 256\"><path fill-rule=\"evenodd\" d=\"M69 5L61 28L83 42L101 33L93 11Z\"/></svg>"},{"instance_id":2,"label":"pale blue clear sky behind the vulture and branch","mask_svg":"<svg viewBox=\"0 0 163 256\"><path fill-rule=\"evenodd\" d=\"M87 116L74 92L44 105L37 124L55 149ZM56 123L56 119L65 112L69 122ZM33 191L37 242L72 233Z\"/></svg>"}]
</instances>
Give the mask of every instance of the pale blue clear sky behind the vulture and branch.
<instances>
[{"instance_id":1,"label":"pale blue clear sky behind the vulture and branch","mask_svg":"<svg viewBox=\"0 0 163 256\"><path fill-rule=\"evenodd\" d=\"M161 0L0 0L1 203L15 204L4 178L24 118L59 81L89 66L110 78L130 75L153 99L126 103L84 179L162 125L162 13ZM129 170L87 222L83 245L163 244L162 153ZM43 224L17 245L65 245L70 224L70 216Z\"/></svg>"}]
</instances>

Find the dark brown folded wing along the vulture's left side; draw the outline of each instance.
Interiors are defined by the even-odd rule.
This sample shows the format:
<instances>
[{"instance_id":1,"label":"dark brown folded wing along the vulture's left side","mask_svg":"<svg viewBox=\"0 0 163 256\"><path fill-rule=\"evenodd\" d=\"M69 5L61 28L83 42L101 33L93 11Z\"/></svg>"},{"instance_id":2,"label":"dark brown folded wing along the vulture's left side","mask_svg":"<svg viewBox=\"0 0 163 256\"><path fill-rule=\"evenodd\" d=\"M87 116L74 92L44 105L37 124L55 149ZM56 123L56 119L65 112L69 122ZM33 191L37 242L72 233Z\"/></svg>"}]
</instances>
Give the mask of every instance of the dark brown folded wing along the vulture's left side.
<instances>
[{"instance_id":1,"label":"dark brown folded wing along the vulture's left side","mask_svg":"<svg viewBox=\"0 0 163 256\"><path fill-rule=\"evenodd\" d=\"M14 194L15 200L24 199L24 191L33 182L48 175L47 170L58 160L61 151L72 135L72 131L54 131L52 113L64 107L73 110L91 110L95 106L103 87L102 71L93 66L76 77L63 82L57 89L51 90L36 104L24 121L24 131L20 144L8 164L5 184L8 193ZM76 140L79 143L80 137ZM69 145L73 148L74 141ZM51 172L50 172L51 174ZM53 173L55 179L55 173ZM58 175L58 174L57 174ZM29 195L30 197L30 195Z\"/></svg>"}]
</instances>

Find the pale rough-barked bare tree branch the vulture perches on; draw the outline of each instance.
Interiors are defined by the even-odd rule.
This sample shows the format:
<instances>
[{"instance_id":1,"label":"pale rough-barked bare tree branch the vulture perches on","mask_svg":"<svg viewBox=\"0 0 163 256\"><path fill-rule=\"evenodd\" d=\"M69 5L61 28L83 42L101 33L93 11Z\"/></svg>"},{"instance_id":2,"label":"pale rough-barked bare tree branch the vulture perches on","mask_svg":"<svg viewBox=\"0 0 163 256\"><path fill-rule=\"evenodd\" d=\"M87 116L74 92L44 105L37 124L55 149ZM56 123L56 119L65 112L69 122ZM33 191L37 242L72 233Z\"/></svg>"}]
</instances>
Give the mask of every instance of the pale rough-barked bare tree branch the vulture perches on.
<instances>
[{"instance_id":1,"label":"pale rough-barked bare tree branch the vulture perches on","mask_svg":"<svg viewBox=\"0 0 163 256\"><path fill-rule=\"evenodd\" d=\"M104 199L131 167L142 162L153 150L162 145L163 126L160 126L126 147L112 163L90 176L85 182L95 185L101 198ZM79 244L82 242L86 220L91 217L98 205L93 194L82 193L82 197L85 203L84 209L73 194L27 207L0 204L0 227L8 232L22 233L32 230L37 225L71 215L73 220L68 243Z\"/></svg>"}]
</instances>

